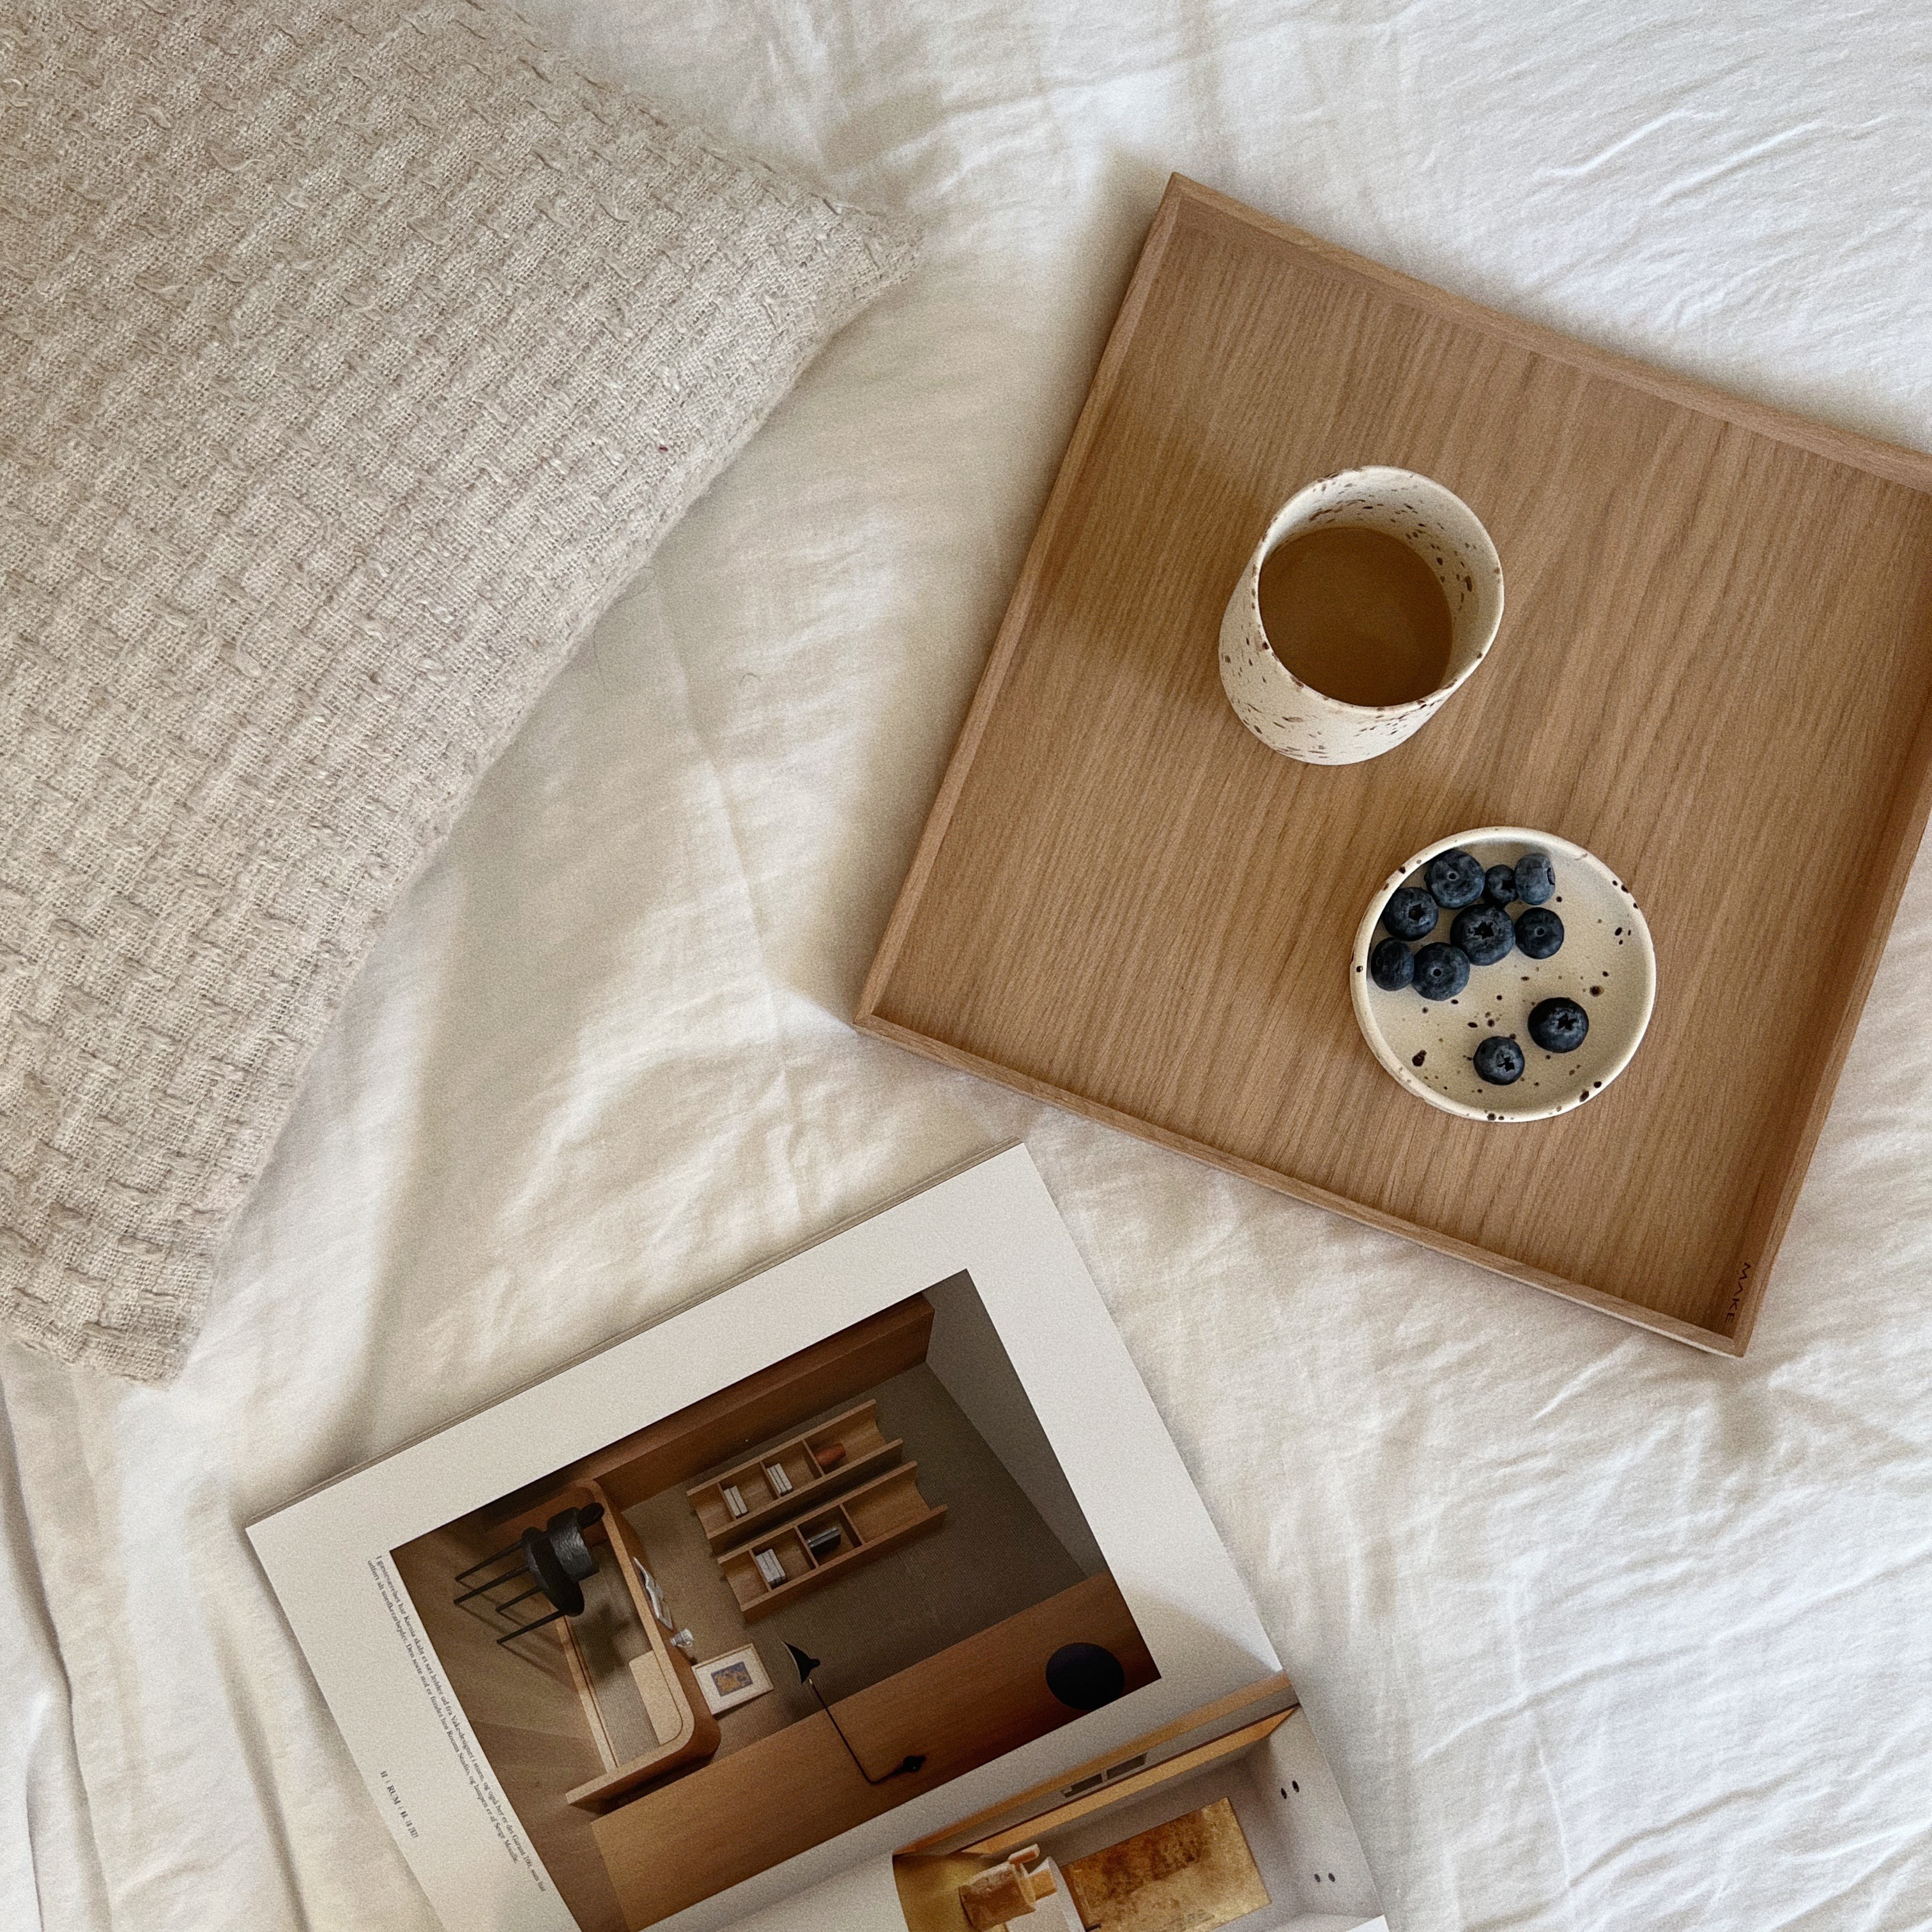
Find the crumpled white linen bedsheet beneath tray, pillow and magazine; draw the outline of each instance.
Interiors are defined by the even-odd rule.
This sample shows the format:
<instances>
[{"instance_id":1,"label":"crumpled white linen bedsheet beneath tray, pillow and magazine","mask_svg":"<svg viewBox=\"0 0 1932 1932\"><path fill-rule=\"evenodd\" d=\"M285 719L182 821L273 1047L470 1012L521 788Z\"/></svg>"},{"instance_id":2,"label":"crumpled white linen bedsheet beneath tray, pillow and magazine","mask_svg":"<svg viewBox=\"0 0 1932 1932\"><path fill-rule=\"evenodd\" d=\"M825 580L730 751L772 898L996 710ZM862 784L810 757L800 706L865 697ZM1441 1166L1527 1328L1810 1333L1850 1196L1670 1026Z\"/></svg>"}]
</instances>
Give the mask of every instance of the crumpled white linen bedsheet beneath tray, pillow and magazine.
<instances>
[{"instance_id":1,"label":"crumpled white linen bedsheet beneath tray, pillow and magazine","mask_svg":"<svg viewBox=\"0 0 1932 1932\"><path fill-rule=\"evenodd\" d=\"M1932 862L1745 1362L846 1024L1171 168L1926 448L1922 8L533 12L912 209L927 265L665 545L419 881L182 1381L6 1356L0 1922L423 1932L240 1524L1024 1136L1393 1926L1932 1924Z\"/></svg>"}]
</instances>

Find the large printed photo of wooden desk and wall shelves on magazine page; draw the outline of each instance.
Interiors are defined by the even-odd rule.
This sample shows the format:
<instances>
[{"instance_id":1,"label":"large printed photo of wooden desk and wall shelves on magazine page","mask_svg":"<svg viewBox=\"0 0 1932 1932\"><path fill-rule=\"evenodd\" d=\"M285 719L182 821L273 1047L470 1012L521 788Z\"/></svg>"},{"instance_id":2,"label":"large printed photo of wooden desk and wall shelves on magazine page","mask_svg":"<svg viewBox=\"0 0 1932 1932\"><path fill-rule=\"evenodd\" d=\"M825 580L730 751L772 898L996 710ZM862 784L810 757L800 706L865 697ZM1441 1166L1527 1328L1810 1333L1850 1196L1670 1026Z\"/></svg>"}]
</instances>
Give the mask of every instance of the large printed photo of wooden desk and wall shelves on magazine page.
<instances>
[{"instance_id":1,"label":"large printed photo of wooden desk and wall shelves on magazine page","mask_svg":"<svg viewBox=\"0 0 1932 1932\"><path fill-rule=\"evenodd\" d=\"M583 1932L1157 1675L970 1275L390 1555Z\"/></svg>"}]
</instances>

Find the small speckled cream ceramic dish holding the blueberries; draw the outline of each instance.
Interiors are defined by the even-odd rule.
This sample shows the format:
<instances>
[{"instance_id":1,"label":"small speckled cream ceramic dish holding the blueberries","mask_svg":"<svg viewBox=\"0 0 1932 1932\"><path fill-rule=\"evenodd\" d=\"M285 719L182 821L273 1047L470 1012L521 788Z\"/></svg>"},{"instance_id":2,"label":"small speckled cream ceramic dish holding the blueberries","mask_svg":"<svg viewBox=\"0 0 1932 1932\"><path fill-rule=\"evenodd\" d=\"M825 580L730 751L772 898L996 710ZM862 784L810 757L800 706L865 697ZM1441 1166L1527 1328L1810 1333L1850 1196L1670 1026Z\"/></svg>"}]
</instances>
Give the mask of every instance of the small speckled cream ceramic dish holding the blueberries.
<instances>
[{"instance_id":1,"label":"small speckled cream ceramic dish holding the blueberries","mask_svg":"<svg viewBox=\"0 0 1932 1932\"><path fill-rule=\"evenodd\" d=\"M1548 852L1557 873L1549 910L1563 922L1563 947L1548 960L1511 952L1495 966L1472 966L1468 985L1447 1003L1424 1001L1414 987L1385 993L1368 978L1381 908L1399 885L1420 885L1422 867L1453 846L1472 852L1484 869ZM1447 941L1453 918L1441 914L1430 937ZM1658 997L1658 954L1629 887L1600 858L1553 833L1486 825L1437 838L1381 881L1356 927L1349 987L1370 1051L1418 1099L1464 1121L1548 1121L1598 1099L1631 1065ZM1530 1039L1530 1007L1557 995L1590 1014L1575 1053L1549 1053ZM1490 1034L1509 1034L1522 1047L1526 1065L1513 1086L1490 1086L1476 1074L1470 1055Z\"/></svg>"}]
</instances>

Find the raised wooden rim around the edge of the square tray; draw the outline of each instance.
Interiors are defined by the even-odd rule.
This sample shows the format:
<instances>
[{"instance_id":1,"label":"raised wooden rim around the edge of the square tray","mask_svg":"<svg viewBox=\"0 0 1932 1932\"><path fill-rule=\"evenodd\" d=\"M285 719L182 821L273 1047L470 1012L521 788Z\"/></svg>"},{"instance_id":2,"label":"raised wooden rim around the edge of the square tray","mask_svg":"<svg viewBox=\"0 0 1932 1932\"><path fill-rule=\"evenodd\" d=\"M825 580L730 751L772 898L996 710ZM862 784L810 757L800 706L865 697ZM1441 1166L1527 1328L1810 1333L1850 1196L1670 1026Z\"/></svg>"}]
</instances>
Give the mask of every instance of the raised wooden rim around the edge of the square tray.
<instances>
[{"instance_id":1,"label":"raised wooden rim around the edge of the square tray","mask_svg":"<svg viewBox=\"0 0 1932 1932\"><path fill-rule=\"evenodd\" d=\"M974 690L960 734L954 740L952 753L939 782L939 792L933 798L925 827L920 833L912 864L900 883L891 918L887 920L885 933L879 941L879 949L866 974L866 983L860 991L852 1024L862 1034L906 1047L908 1051L920 1053L943 1066L980 1074L985 1080L1012 1088L1032 1099L1065 1107L1066 1111L1084 1115L1103 1126L1115 1126L1121 1132L1134 1134L1138 1140L1153 1142L1155 1146L1169 1148L1177 1153L1188 1153L1194 1159L1206 1161L1209 1167L1221 1167L1227 1173L1256 1180L1277 1194L1304 1200L1316 1208L1327 1208L1331 1213L1347 1215L1350 1221L1360 1221L1368 1227L1379 1227L1387 1233L1403 1235L1426 1248L1434 1248L1437 1254L1472 1262L1490 1273L1528 1283L1530 1287L1544 1289L1549 1294L1563 1296L1565 1300L1578 1302L1586 1308L1596 1308L1602 1314L1615 1316L1634 1327L1667 1335L1673 1341L1689 1343L1690 1347L1702 1349L1710 1354L1743 1356L1750 1345L1758 1316L1764 1308L1764 1296L1770 1289L1774 1264L1783 1244L1791 1213L1797 1208L1799 1190L1810 1171L1818 1136L1824 1130L1826 1115L1832 1109L1832 1099L1837 1092L1837 1080L1843 1070L1845 1057L1851 1051L1859 1016L1864 1010L1872 978L1878 972L1878 962L1884 954L1893 920L1897 918L1899 900L1905 895L1905 883L1911 875L1913 862L1918 856L1920 840L1924 838L1926 821L1932 817L1932 701L1928 701L1920 711L1917 726L1913 728L1911 748L1891 798L1886 800L1882 811L1874 815L1880 827L1880 844L1874 862L1872 889L1864 898L1870 908L1870 918L1861 933L1853 933L1847 939L1843 972L1839 974L1832 993L1820 1003L1820 1028L1816 1034L1818 1045L1810 1055L1810 1063L1797 1072L1793 1084L1795 1097L1801 1099L1801 1105L1795 1107L1783 1140L1774 1144L1776 1159L1766 1161L1758 1188L1743 1215L1737 1246L1733 1250L1735 1275L1731 1298L1719 1318L1723 1325L1718 1327L1685 1321L1677 1316L1663 1314L1662 1310L1646 1308L1642 1302L1627 1300L1604 1289L1594 1289L1588 1283L1571 1281L1565 1275L1553 1275L1546 1269L1517 1262L1511 1256L1497 1254L1495 1250L1459 1240L1453 1235L1428 1227L1426 1223L1385 1213L1379 1208L1356 1202L1345 1194L1333 1194L1331 1190L1314 1186L1294 1175L1283 1175L1277 1169L1264 1167L1236 1153L1229 1153L1223 1148L1215 1148L1211 1142L1177 1134L1155 1121L1144 1121L1138 1115L1107 1107L1101 1101L1094 1101L1070 1088L1057 1088L1043 1080L1036 1080L1030 1074L1022 1074L1016 1068L1003 1066L997 1061L966 1053L945 1039L914 1032L912 1028L900 1026L879 1012L879 1001L887 993L893 972L898 966L900 952L904 951L906 937L912 929L912 922L918 918L925 885L939 858L939 848L945 844L947 833L952 827L952 813L956 811L960 796L966 788L980 742L991 723L1001 690L1007 682L1007 672L1012 667L1020 639L1032 618L1039 580L1055 537L1059 535L1066 502L1086 464L1088 452L1099 431L1099 423L1113 402L1113 394L1121 379L1121 365L1126 361L1142 311L1148 305L1148 296L1151 294L1167 257L1167 245L1173 240L1175 230L1190 216L1206 216L1221 222L1233 220L1254 228L1262 236L1287 243L1291 249L1298 251L1306 259L1306 265L1321 274L1331 274L1341 280L1368 282L1378 294L1399 301L1405 307L1424 309L1432 315L1463 323L1464 327L1488 330L1517 348L1524 348L1532 354L1582 369L1588 375L1623 383L1679 408L1714 415L1725 423L1737 425L1739 429L1752 431L1754 435L1787 442L1812 456L1822 456L1828 462L1845 464L1853 469L1862 469L1868 475L1882 477L1888 483L1897 483L1905 489L1932 497L1932 454L1928 452L1905 448L1897 442L1884 442L1876 437L1866 437L1861 431L1818 423L1789 410L1779 410L1748 396L1737 396L1692 377L1673 375L1667 369L1658 369L1634 357L1619 355L1613 350L1598 348L1577 336L1567 336L1561 330L1549 328L1544 323L1530 323L1501 309L1486 307L1466 296L1457 296L1432 282L1422 282L1397 269L1387 269L1381 263L1370 261L1366 255L1356 255L1350 249L1339 247L1333 242L1323 242L1320 236L1294 228L1289 222L1275 220L1271 214L1264 214L1260 209L1248 207L1246 203L1236 201L1231 195L1223 195L1219 189L1208 187L1202 182L1194 182L1184 174L1171 174L1167 178L1167 189L1161 195L1159 209L1148 228L1148 238L1142 243L1140 257L1134 265L1119 313L1107 332L1107 344L1101 350L1099 365L1088 384L1072 437L1068 439L1066 450L1055 469L1053 487L1026 547L1020 576L1014 582L1012 597L1007 603L1007 611L993 638L985 670L980 676L980 684ZM1718 1291L1712 1294L1712 1306L1716 1306L1716 1293Z\"/></svg>"}]
</instances>

